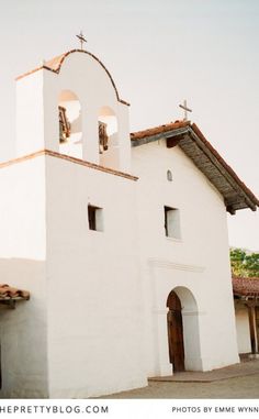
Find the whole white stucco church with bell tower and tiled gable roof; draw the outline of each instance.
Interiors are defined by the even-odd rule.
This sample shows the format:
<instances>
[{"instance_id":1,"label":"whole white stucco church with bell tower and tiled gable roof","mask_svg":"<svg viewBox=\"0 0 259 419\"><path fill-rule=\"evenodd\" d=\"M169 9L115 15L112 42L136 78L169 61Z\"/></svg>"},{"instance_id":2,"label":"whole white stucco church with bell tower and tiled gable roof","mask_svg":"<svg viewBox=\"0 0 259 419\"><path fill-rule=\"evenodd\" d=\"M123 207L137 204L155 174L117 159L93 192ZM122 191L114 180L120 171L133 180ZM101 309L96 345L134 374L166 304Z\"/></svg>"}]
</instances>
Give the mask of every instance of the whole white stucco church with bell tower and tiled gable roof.
<instances>
[{"instance_id":1,"label":"whole white stucco church with bell tower and tiled gable roof","mask_svg":"<svg viewBox=\"0 0 259 419\"><path fill-rule=\"evenodd\" d=\"M130 134L128 110L87 51L16 79L0 274L31 297L0 301L0 397L102 396L239 362L226 211L259 201L195 124Z\"/></svg>"}]
</instances>

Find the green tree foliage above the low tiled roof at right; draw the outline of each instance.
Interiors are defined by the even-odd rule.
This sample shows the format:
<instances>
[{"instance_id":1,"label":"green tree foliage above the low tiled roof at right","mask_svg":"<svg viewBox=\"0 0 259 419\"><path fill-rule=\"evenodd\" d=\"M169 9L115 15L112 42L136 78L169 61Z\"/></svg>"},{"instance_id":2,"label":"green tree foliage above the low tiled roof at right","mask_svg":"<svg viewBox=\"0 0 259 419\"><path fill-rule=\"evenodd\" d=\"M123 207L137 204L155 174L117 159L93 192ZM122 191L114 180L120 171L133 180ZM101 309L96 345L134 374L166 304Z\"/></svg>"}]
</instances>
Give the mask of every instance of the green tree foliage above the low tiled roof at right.
<instances>
[{"instance_id":1,"label":"green tree foliage above the low tiled roof at right","mask_svg":"<svg viewBox=\"0 0 259 419\"><path fill-rule=\"evenodd\" d=\"M230 249L232 273L243 277L259 277L259 253Z\"/></svg>"}]
</instances>

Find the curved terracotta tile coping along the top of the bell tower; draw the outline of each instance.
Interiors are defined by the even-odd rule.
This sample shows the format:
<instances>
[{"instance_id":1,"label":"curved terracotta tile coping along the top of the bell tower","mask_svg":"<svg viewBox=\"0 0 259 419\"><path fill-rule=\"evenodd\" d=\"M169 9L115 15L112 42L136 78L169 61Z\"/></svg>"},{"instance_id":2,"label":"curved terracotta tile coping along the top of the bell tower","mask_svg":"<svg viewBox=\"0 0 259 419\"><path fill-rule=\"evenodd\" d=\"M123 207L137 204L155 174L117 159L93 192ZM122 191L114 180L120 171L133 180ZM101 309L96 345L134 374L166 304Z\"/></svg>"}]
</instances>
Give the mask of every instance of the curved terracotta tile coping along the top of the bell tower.
<instances>
[{"instance_id":1,"label":"curved terracotta tile coping along the top of the bell tower","mask_svg":"<svg viewBox=\"0 0 259 419\"><path fill-rule=\"evenodd\" d=\"M47 69L47 70L49 70L49 71L53 71L53 73L58 74L58 73L60 71L60 69L61 69L63 63L64 63L64 60L66 59L66 57L67 57L68 55L70 55L70 54L74 54L74 53L82 53L82 54L87 54L87 55L90 55L93 59L95 59L95 60L102 66L102 68L106 71L106 74L108 74L108 76L109 76L109 78L110 78L110 80L111 80L111 82L112 82L112 86L113 86L113 88L114 88L114 90L115 90L115 95L116 95L117 100L119 100L121 103L123 103L123 104L127 104L127 106L130 106L128 102L126 102L125 100L122 100L122 99L120 98L117 88L116 88L115 82L114 82L114 80L113 80L113 78L112 78L112 76L111 76L111 73L106 69L106 67L104 66L104 64L103 64L103 63L102 63L95 55L93 55L92 53L89 53L88 51L85 51L85 49L71 49L71 51L68 51L67 53L64 53L64 54L61 54L61 55L58 55L58 56L56 56L56 57L54 57L54 58L52 58L52 59L45 62L42 66L40 66L40 67L37 67L37 68L34 68L34 69L31 70L31 71L26 71L26 73L22 74L21 76L18 76L18 77L16 77L16 80L20 80L21 78L26 77L26 76L29 76L30 74L33 74L33 73L35 73L35 71L38 71L38 70L41 70L41 69L43 69L43 68L44 68L44 69Z\"/></svg>"}]
</instances>

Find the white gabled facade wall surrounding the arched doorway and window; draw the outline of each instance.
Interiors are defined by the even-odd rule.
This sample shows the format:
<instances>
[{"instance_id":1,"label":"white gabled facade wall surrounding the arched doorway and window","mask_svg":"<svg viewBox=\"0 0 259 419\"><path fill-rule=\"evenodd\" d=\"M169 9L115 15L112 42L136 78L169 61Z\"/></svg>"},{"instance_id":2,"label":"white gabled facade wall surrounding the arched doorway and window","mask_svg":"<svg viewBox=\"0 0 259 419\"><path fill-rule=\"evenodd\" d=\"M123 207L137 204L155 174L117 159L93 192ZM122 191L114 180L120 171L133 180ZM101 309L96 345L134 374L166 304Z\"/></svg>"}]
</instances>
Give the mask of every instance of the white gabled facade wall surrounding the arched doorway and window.
<instances>
[{"instance_id":1,"label":"white gabled facade wall surrounding the arched doorway and window","mask_svg":"<svg viewBox=\"0 0 259 419\"><path fill-rule=\"evenodd\" d=\"M167 180L168 169L172 181ZM223 198L179 147L168 150L162 140L133 148L133 172L139 176L147 374L171 373L166 301L179 286L188 288L198 305L198 310L184 312L182 301L185 367L207 371L238 362ZM180 240L165 234L164 206L180 210ZM187 333L191 324L199 340Z\"/></svg>"}]
</instances>

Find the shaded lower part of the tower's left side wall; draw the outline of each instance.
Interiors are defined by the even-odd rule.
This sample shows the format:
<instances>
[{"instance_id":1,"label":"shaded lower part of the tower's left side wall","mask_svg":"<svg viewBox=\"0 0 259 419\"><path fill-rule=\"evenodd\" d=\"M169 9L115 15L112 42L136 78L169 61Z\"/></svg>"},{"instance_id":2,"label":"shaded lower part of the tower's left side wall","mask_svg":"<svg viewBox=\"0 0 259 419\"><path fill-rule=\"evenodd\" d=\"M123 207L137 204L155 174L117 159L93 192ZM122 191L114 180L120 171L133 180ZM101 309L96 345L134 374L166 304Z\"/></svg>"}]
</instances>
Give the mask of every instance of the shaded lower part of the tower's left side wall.
<instances>
[{"instance_id":1,"label":"shaded lower part of the tower's left side wall","mask_svg":"<svg viewBox=\"0 0 259 419\"><path fill-rule=\"evenodd\" d=\"M47 397L45 262L0 260L0 282L29 290L15 309L0 305L1 398Z\"/></svg>"}]
</instances>

